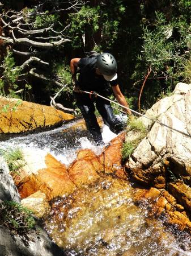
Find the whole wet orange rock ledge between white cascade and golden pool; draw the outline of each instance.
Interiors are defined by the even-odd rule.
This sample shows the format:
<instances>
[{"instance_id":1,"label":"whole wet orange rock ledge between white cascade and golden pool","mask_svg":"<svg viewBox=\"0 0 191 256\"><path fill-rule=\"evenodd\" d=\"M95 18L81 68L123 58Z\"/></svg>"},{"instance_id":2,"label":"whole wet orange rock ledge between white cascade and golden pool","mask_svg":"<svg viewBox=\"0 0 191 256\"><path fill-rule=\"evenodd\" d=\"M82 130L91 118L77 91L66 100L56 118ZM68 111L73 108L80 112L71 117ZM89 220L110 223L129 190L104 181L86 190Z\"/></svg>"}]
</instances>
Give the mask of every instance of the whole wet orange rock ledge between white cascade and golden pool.
<instances>
[{"instance_id":1,"label":"whole wet orange rock ledge between white cascade and golden pool","mask_svg":"<svg viewBox=\"0 0 191 256\"><path fill-rule=\"evenodd\" d=\"M15 183L22 199L37 191L45 193L48 200L70 195L82 184L91 184L100 176L115 175L126 179L121 165L121 147L125 134L120 134L97 156L91 150L80 150L77 159L68 168L52 155L26 151L26 166L20 168ZM116 151L118 154L116 154Z\"/></svg>"}]
</instances>

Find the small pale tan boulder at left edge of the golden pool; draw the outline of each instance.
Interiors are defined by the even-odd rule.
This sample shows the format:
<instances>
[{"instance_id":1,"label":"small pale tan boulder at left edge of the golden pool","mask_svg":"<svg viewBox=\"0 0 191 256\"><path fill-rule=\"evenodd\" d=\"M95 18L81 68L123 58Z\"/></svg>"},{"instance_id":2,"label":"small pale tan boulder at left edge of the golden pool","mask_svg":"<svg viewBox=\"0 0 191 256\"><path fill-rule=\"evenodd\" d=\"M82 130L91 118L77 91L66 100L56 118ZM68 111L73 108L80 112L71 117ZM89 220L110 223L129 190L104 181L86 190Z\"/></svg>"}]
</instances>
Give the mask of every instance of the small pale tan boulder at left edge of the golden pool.
<instances>
[{"instance_id":1,"label":"small pale tan boulder at left edge of the golden pool","mask_svg":"<svg viewBox=\"0 0 191 256\"><path fill-rule=\"evenodd\" d=\"M31 196L26 197L21 201L23 207L32 210L36 217L42 218L48 214L49 211L49 203L46 199L45 193L37 191L33 193Z\"/></svg>"}]
</instances>

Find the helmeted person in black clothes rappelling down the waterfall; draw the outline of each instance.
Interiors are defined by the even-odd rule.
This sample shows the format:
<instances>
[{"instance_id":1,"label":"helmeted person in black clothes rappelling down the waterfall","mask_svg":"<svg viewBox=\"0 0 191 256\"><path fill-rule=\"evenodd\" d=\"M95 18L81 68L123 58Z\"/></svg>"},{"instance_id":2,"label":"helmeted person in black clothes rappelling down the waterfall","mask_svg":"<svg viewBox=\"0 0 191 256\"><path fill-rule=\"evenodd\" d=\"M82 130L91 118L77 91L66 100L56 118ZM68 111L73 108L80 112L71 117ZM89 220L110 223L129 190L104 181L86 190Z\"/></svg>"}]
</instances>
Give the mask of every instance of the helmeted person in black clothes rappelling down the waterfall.
<instances>
[{"instance_id":1,"label":"helmeted person in black clothes rappelling down the waterfall","mask_svg":"<svg viewBox=\"0 0 191 256\"><path fill-rule=\"evenodd\" d=\"M73 75L73 91L77 106L86 122L87 130L90 131L96 144L101 144L103 139L95 116L95 105L103 118L103 122L113 133L117 134L122 131L124 122L113 114L111 103L108 100L96 97L96 95L108 97L109 88L112 88L119 104L125 107L125 113L131 114L131 111L127 109L129 107L128 102L126 102L118 85L117 61L111 53L96 54L92 52L91 57L71 59L70 69ZM78 79L77 72L79 73ZM83 91L96 93L87 94Z\"/></svg>"}]
</instances>

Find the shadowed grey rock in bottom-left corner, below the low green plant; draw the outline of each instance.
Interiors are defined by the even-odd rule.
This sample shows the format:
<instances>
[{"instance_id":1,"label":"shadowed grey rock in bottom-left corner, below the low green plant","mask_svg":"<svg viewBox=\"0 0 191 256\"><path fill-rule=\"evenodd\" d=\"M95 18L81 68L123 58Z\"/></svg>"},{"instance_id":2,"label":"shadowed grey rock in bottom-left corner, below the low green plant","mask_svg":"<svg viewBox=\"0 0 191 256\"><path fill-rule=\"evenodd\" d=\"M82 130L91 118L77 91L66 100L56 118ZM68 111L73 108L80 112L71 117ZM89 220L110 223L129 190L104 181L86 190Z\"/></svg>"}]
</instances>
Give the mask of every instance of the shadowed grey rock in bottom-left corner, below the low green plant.
<instances>
[{"instance_id":1,"label":"shadowed grey rock in bottom-left corner, below the low green plant","mask_svg":"<svg viewBox=\"0 0 191 256\"><path fill-rule=\"evenodd\" d=\"M27 234L28 239L21 236L11 236L9 229L0 226L0 256L63 256L66 255L55 243L48 239L41 230ZM28 244L26 246L26 243Z\"/></svg>"}]
</instances>

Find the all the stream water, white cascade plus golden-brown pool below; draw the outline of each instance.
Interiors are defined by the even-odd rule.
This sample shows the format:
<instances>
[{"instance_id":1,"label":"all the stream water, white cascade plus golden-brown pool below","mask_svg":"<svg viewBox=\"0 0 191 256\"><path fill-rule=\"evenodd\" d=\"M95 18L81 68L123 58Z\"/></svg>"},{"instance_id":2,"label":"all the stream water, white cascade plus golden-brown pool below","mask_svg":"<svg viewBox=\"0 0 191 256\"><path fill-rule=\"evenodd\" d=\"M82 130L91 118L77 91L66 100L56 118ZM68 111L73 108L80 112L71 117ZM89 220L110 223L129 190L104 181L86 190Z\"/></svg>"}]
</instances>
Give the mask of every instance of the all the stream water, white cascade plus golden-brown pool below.
<instances>
[{"instance_id":1,"label":"all the stream water, white cascade plus golden-brown pool below","mask_svg":"<svg viewBox=\"0 0 191 256\"><path fill-rule=\"evenodd\" d=\"M12 138L1 142L1 147L29 148L38 155L50 152L65 164L73 162L79 148L100 154L102 148L91 142L86 131L69 129L73 124ZM104 127L103 137L107 143L115 135ZM44 228L69 256L191 255L190 236L165 228L165 220L151 218L150 205L135 205L134 193L126 180L100 177L95 184L83 185L72 195L53 200Z\"/></svg>"}]
</instances>

